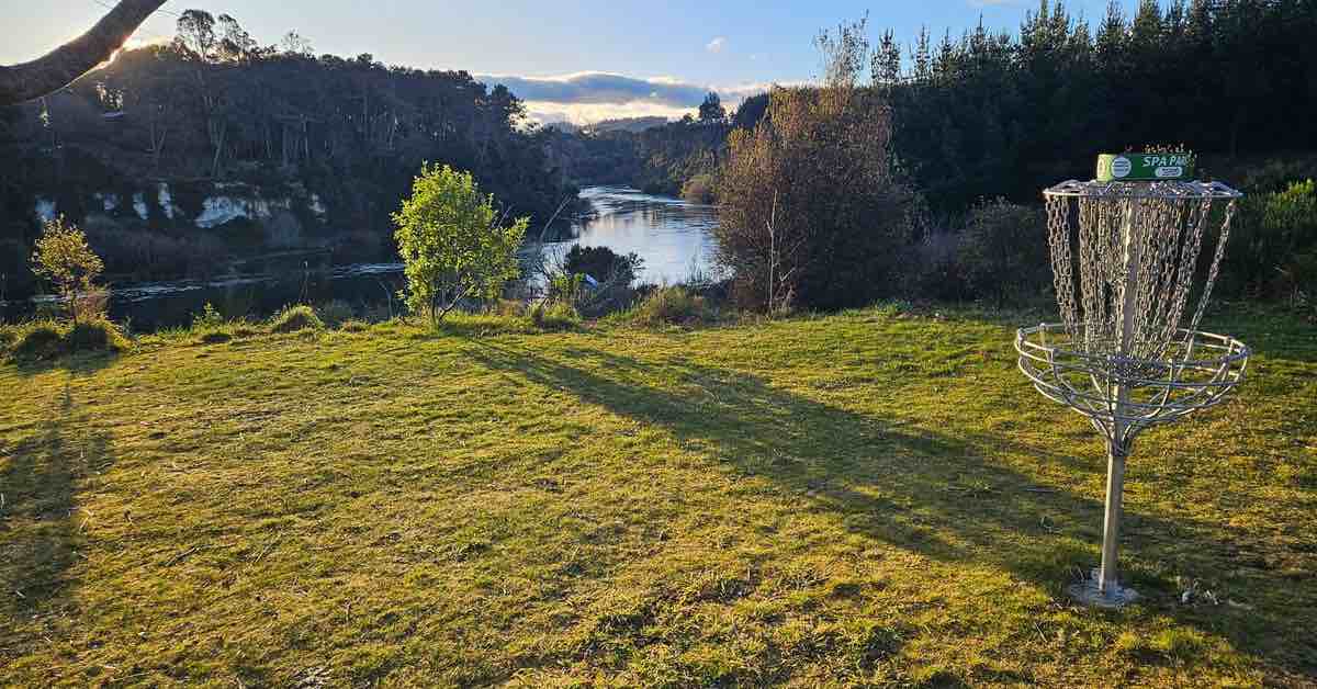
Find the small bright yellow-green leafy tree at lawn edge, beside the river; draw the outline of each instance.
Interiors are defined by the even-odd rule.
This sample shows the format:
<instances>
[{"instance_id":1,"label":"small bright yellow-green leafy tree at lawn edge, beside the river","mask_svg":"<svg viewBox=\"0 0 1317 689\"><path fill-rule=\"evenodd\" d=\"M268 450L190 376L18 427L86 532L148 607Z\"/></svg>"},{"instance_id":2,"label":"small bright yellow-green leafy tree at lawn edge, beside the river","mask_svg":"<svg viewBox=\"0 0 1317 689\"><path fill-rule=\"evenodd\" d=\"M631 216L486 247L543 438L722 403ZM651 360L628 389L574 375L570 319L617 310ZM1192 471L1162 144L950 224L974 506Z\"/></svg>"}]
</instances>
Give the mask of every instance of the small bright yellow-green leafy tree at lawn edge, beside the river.
<instances>
[{"instance_id":1,"label":"small bright yellow-green leafy tree at lawn edge, beside the river","mask_svg":"<svg viewBox=\"0 0 1317 689\"><path fill-rule=\"evenodd\" d=\"M470 173L421 167L412 195L392 215L407 275L402 298L439 323L462 299L495 299L520 273L516 249L529 217L503 225L494 196L482 195Z\"/></svg>"}]
</instances>

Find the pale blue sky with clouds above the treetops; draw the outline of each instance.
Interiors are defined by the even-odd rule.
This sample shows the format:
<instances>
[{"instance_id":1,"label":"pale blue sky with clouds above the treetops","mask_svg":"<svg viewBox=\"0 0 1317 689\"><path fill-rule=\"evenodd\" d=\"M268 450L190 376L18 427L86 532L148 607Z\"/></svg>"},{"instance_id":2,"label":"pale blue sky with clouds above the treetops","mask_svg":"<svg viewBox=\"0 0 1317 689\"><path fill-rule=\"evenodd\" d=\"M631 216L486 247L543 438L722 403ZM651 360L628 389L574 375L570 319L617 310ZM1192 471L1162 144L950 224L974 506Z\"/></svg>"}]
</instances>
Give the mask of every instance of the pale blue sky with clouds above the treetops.
<instances>
[{"instance_id":1,"label":"pale blue sky with clouds above the treetops","mask_svg":"<svg viewBox=\"0 0 1317 689\"><path fill-rule=\"evenodd\" d=\"M112 0L0 3L0 63L33 59L87 30ZM1096 24L1109 0L1068 0ZM1117 0L1133 13L1138 0ZM165 41L183 9L228 13L261 43L290 29L316 53L370 53L386 65L466 70L506 83L541 121L678 117L716 91L728 105L772 83L818 72L811 38L869 16L871 34L890 28L909 45L921 26L954 36L981 18L1019 28L1038 0L840 1L557 1L520 0L170 0L134 34Z\"/></svg>"}]
</instances>

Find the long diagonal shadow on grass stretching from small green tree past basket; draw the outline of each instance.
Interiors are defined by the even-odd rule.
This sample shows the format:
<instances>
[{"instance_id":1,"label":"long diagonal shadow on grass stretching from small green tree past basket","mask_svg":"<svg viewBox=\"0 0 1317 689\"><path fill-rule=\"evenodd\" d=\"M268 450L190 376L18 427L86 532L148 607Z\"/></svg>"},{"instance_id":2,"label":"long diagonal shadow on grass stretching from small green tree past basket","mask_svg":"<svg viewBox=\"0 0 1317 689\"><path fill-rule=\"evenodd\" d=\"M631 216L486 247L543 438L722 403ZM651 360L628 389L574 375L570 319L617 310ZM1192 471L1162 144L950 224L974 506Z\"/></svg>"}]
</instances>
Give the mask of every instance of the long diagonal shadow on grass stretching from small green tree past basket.
<instances>
[{"instance_id":1,"label":"long diagonal shadow on grass stretching from small green tree past basket","mask_svg":"<svg viewBox=\"0 0 1317 689\"><path fill-rule=\"evenodd\" d=\"M1096 564L1100 501L1039 485L985 455L1060 460L1040 448L1002 436L910 428L684 360L640 362L593 349L569 350L569 360L560 360L490 343L471 356L491 369L568 390L583 403L665 427L739 470L803 494L813 509L834 512L846 528L868 537L938 560L994 564L1058 595L1073 570ZM1173 535L1177 552L1187 541L1217 565L1230 559L1230 545L1214 540L1222 536L1220 526L1131 512L1126 524L1127 534ZM1289 636L1285 630L1301 632L1303 622L1291 610L1259 606L1221 624L1220 613L1175 606L1173 584L1159 574L1135 568L1129 576L1151 594L1147 605L1223 634L1287 672L1312 671L1310 653L1276 647ZM1283 590L1295 582L1277 576L1266 585Z\"/></svg>"}]
</instances>

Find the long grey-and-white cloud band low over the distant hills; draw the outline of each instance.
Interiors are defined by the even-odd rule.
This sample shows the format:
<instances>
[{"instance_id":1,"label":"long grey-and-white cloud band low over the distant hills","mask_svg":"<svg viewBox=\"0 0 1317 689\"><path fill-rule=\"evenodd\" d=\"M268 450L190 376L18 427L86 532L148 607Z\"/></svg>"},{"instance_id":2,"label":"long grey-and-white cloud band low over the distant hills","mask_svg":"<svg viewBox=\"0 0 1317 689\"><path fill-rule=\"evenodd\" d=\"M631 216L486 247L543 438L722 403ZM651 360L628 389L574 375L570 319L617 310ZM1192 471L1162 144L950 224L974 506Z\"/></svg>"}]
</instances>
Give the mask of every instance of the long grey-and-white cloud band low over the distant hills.
<instances>
[{"instance_id":1,"label":"long grey-and-white cloud band low over the distant hills","mask_svg":"<svg viewBox=\"0 0 1317 689\"><path fill-rule=\"evenodd\" d=\"M531 117L539 121L594 123L616 117L662 116L680 119L694 112L710 91L723 104L736 107L747 96L768 90L768 84L718 87L697 84L676 76L627 76L603 71L562 76L477 75L486 84L503 84L525 101Z\"/></svg>"}]
</instances>

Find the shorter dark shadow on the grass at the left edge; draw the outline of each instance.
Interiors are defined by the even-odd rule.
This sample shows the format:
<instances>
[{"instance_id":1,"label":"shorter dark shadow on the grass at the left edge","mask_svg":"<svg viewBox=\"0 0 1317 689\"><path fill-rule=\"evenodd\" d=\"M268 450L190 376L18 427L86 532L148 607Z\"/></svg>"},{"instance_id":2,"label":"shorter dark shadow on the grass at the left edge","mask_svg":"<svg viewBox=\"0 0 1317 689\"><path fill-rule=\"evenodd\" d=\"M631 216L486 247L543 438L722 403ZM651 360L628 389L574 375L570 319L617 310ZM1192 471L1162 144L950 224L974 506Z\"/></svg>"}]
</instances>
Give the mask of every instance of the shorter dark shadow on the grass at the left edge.
<instances>
[{"instance_id":1,"label":"shorter dark shadow on the grass at the left edge","mask_svg":"<svg viewBox=\"0 0 1317 689\"><path fill-rule=\"evenodd\" d=\"M32 436L0 443L0 615L14 619L57 603L70 586L80 543L75 495L88 469L112 462L108 439L80 429L66 385Z\"/></svg>"}]
</instances>

